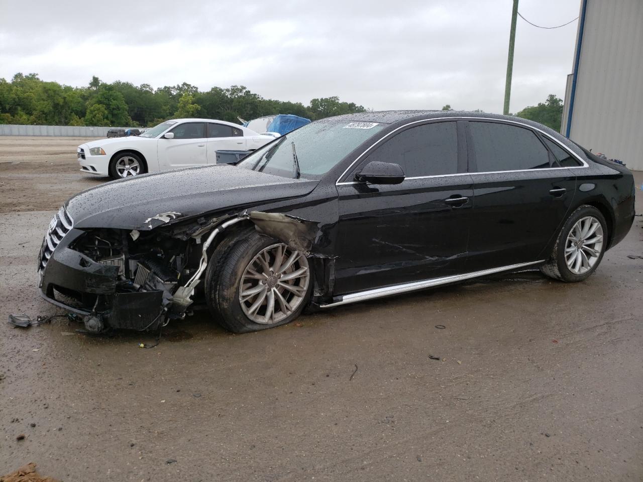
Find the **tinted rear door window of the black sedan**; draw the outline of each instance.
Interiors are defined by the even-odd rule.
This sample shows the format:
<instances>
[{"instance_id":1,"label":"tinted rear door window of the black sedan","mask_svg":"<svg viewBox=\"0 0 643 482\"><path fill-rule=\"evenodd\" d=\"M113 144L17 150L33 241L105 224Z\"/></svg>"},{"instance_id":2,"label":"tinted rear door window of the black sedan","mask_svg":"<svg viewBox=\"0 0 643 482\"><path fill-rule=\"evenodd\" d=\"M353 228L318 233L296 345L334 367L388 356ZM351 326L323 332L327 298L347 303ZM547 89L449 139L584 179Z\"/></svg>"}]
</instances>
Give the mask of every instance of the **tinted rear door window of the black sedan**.
<instances>
[{"instance_id":1,"label":"tinted rear door window of the black sedan","mask_svg":"<svg viewBox=\"0 0 643 482\"><path fill-rule=\"evenodd\" d=\"M529 129L494 122L469 121L476 172L551 167L547 148Z\"/></svg>"}]
</instances>

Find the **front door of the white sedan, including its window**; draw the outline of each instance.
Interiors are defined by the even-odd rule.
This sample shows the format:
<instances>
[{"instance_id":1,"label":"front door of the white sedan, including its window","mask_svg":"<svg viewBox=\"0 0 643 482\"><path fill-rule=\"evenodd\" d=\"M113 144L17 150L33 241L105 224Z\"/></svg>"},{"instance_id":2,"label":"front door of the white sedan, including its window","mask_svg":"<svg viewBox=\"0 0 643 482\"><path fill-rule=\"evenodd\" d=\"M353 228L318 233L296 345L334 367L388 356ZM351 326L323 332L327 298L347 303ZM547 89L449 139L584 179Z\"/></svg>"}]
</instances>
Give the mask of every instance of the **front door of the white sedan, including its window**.
<instances>
[{"instance_id":1,"label":"front door of the white sedan, including its window","mask_svg":"<svg viewBox=\"0 0 643 482\"><path fill-rule=\"evenodd\" d=\"M206 130L204 122L184 122L170 130L174 139L158 141L161 170L203 166L206 163Z\"/></svg>"}]
</instances>

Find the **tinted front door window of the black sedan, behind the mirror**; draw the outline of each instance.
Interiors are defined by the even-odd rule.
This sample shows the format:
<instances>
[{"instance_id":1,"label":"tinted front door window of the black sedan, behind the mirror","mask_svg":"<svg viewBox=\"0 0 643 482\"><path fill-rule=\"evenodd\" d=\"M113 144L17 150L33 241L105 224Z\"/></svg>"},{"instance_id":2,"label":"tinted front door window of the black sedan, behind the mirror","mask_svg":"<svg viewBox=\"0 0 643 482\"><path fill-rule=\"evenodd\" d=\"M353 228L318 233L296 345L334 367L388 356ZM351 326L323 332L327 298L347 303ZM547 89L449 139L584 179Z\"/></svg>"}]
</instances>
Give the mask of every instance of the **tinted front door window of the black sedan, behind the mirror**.
<instances>
[{"instance_id":1,"label":"tinted front door window of the black sedan, behind the mirror","mask_svg":"<svg viewBox=\"0 0 643 482\"><path fill-rule=\"evenodd\" d=\"M399 164L406 177L458 172L458 131L455 122L437 122L406 129L388 139L366 162Z\"/></svg>"}]
</instances>

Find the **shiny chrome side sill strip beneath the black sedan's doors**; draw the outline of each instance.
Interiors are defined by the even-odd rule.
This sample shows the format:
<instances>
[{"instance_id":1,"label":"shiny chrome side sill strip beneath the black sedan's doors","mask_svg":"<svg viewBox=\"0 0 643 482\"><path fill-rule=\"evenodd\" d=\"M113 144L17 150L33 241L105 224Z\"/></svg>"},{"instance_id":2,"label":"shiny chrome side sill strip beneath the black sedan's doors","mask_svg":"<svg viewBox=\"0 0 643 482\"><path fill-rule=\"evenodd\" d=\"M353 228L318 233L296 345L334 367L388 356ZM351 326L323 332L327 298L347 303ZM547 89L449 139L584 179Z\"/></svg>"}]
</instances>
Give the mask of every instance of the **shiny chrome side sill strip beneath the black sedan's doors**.
<instances>
[{"instance_id":1,"label":"shiny chrome side sill strip beneath the black sedan's doors","mask_svg":"<svg viewBox=\"0 0 643 482\"><path fill-rule=\"evenodd\" d=\"M409 291L421 290L424 288L432 288L448 283L457 283L457 281L469 280L470 278L478 278L478 276L486 276L487 274L494 274L496 272L511 271L527 266L532 266L539 263L544 263L545 260L532 261L529 263L512 264L509 266L502 266L499 268L485 269L484 271L475 271L465 274L454 274L453 276L444 276L442 278L433 278L431 280L413 281L412 283L403 283L401 285L387 286L385 288L376 288L358 293L345 294L338 296L332 303L327 305L320 305L320 308L332 308L340 305L347 305L349 303L357 303L358 301L366 301L367 299L383 298L384 296L392 296L394 294L406 293Z\"/></svg>"}]
</instances>

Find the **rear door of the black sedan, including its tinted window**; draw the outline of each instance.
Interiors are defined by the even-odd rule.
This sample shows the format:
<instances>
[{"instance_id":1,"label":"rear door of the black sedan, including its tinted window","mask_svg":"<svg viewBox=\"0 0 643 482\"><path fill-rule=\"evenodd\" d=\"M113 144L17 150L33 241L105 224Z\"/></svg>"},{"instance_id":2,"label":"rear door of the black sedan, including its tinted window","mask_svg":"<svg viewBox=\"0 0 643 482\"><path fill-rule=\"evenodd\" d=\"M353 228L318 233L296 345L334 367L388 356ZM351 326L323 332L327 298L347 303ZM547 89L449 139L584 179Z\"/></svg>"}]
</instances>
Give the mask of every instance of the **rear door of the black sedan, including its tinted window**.
<instances>
[{"instance_id":1,"label":"rear door of the black sedan, including its tinted window","mask_svg":"<svg viewBox=\"0 0 643 482\"><path fill-rule=\"evenodd\" d=\"M467 122L475 199L467 271L547 257L545 247L568 215L576 180L541 136L502 121Z\"/></svg>"}]
</instances>

